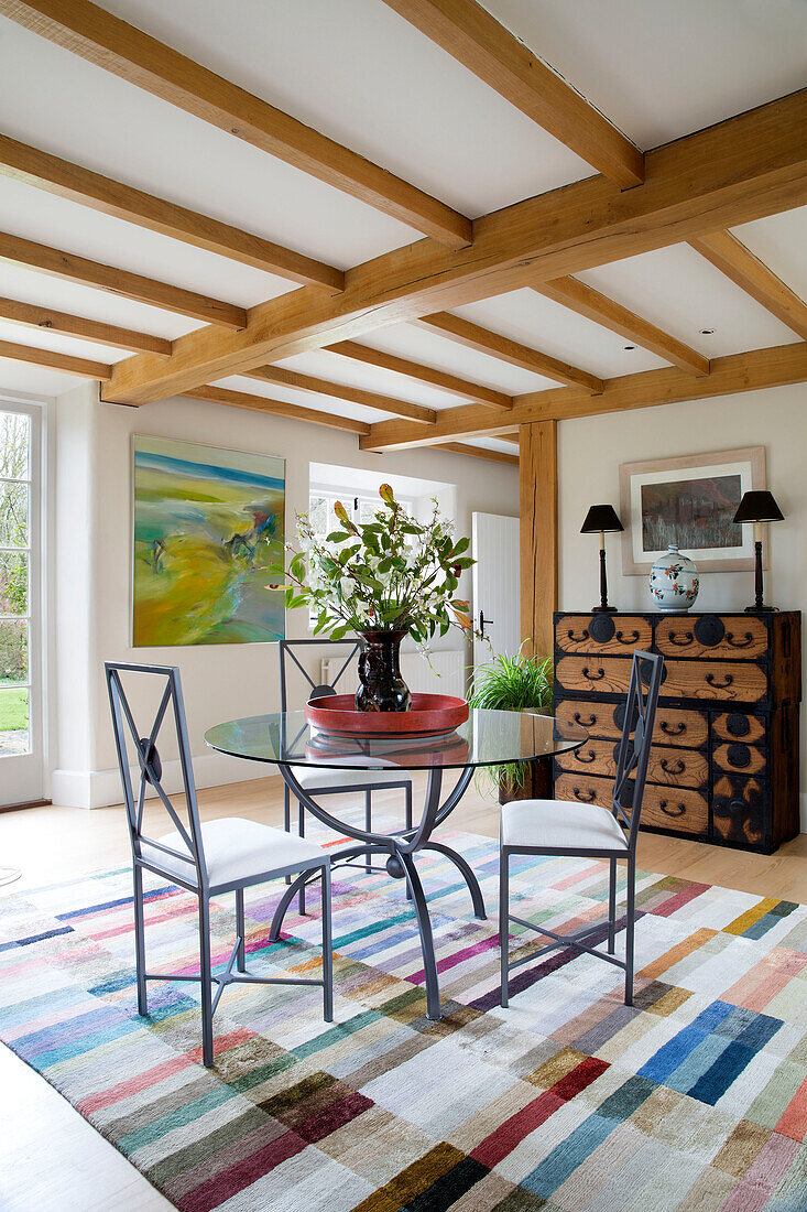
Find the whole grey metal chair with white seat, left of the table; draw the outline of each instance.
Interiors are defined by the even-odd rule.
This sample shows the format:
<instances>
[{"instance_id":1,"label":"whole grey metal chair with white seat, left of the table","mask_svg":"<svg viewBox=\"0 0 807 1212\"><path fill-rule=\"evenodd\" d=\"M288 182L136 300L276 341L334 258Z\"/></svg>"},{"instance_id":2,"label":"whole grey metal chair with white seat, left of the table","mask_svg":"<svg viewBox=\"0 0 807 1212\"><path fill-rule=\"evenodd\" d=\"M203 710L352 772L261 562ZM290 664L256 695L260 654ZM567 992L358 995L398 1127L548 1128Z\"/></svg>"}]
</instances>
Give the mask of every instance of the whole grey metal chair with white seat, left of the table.
<instances>
[{"instance_id":1,"label":"whole grey metal chair with white seat, left of the table","mask_svg":"<svg viewBox=\"0 0 807 1212\"><path fill-rule=\"evenodd\" d=\"M257 821L225 817L218 821L199 819L188 725L182 698L179 670L172 665L138 665L108 661L104 664L118 764L124 788L126 818L132 844L134 877L134 960L137 970L137 1010L148 1013L147 984L149 981L195 981L201 984L202 1060L213 1065L213 1014L228 984L301 984L321 985L326 1022L333 1021L333 957L331 948L331 859L311 841L282 829L271 829ZM134 720L124 690L127 685L156 684L161 691L156 714L148 732ZM142 687L141 687L142 688ZM168 711L171 708L171 713ZM158 737L168 715L173 715L184 806L171 801L162 787L162 762ZM137 797L130 768L130 743L133 745L136 768L139 771ZM143 831L147 790L159 796L174 830L151 839ZM184 819L183 819L184 818ZM168 972L148 972L145 965L145 926L143 914L143 871L178 884L199 898L199 976L176 976ZM246 930L244 891L301 871L320 871L322 880L322 978L259 977L246 970ZM224 971L211 968L210 901L235 893L235 945ZM217 985L213 994L213 984Z\"/></svg>"}]
</instances>

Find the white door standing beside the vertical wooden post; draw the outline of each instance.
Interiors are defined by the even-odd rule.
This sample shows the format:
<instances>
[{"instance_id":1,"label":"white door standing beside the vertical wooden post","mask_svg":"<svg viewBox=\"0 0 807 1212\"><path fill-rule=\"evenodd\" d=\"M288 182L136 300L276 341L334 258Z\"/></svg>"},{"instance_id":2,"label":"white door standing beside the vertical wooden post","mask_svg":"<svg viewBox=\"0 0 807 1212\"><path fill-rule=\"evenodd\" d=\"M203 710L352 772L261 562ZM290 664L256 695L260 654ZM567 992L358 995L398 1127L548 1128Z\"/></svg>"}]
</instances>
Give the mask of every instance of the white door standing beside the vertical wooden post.
<instances>
[{"instance_id":1,"label":"white door standing beside the vertical wooden post","mask_svg":"<svg viewBox=\"0 0 807 1212\"><path fill-rule=\"evenodd\" d=\"M474 664L492 656L513 656L521 645L519 576L519 519L502 514L474 514L474 622L485 640L474 641Z\"/></svg>"}]
</instances>

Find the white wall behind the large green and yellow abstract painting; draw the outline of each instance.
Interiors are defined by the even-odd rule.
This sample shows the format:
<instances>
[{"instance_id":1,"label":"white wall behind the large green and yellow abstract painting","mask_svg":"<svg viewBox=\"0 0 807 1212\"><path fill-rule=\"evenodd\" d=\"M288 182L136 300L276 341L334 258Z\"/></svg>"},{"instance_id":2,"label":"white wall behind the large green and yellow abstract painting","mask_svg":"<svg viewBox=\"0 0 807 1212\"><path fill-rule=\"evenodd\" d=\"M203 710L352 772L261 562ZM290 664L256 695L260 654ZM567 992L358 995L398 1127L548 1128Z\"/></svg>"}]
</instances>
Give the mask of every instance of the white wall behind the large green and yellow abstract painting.
<instances>
[{"instance_id":1,"label":"white wall behind the large green and yellow abstract painting","mask_svg":"<svg viewBox=\"0 0 807 1212\"><path fill-rule=\"evenodd\" d=\"M456 484L456 524L463 534L470 534L473 510L514 514L519 508L515 468L446 451L401 451L380 457L360 451L351 434L222 405L173 398L127 408L99 404L97 389L87 385L62 396L57 415L57 493L64 516L58 531L59 722L51 794L58 804L98 806L120 800L104 659L179 667L200 785L269 772L211 754L204 733L221 720L277 709L275 645L130 646L132 434L284 457L290 537L296 534L296 513L308 509L311 461L384 468ZM462 589L463 596L470 596L470 578ZM287 634L308 634L304 611L288 614ZM166 755L171 758L170 748Z\"/></svg>"}]
</instances>

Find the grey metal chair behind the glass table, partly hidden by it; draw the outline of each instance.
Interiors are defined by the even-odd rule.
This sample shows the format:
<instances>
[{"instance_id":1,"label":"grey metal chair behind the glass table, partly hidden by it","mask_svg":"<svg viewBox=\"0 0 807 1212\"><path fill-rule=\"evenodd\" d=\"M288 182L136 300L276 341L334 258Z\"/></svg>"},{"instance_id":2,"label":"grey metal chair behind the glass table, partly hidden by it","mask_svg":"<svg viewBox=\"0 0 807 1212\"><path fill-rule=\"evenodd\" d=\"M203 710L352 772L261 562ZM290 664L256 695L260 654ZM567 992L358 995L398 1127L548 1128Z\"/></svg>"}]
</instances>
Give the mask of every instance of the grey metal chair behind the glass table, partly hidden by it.
<instances>
[{"instance_id":1,"label":"grey metal chair behind the glass table, partly hidden by it","mask_svg":"<svg viewBox=\"0 0 807 1212\"><path fill-rule=\"evenodd\" d=\"M326 647L344 656L336 675L327 681L316 681L303 663L298 659L297 651L316 646ZM280 709L288 710L288 662L292 662L302 674L308 701L324 698L337 693L337 685L353 664L354 658L359 658L364 648L361 639L355 640L280 640ZM365 829L372 833L373 828L373 791L383 791L394 788L404 789L404 813L407 829L412 828L412 777L405 771L373 771L373 770L345 770L344 774L338 774L334 770L314 770L304 766L294 768L294 774L301 787L309 793L320 795L349 795L355 791L364 791L365 795ZM286 831L291 831L291 793L284 783L284 823ZM301 837L305 836L305 808L297 802L297 831ZM365 859L365 870L372 871L370 856ZM408 897L408 888L407 888ZM305 913L305 890L299 893L299 911Z\"/></svg>"}]
</instances>

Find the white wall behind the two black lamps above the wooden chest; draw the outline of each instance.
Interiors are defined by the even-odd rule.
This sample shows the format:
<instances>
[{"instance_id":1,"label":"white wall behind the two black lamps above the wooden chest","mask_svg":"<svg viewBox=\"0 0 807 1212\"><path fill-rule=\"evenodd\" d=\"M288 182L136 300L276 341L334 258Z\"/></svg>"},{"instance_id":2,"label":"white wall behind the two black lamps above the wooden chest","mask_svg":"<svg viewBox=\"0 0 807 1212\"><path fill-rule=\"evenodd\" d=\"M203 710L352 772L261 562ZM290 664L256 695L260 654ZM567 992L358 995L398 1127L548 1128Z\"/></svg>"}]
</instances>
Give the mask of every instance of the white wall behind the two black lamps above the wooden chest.
<instances>
[{"instance_id":1,"label":"white wall behind the two black lamps above the wooden chest","mask_svg":"<svg viewBox=\"0 0 807 1212\"><path fill-rule=\"evenodd\" d=\"M591 504L619 511L619 464L639 459L765 446L767 482L785 520L771 524L766 601L780 610L807 605L807 385L694 400L633 412L563 421L559 425L560 607L589 610L600 600L597 538L580 534ZM625 522L625 519L622 519ZM622 573L620 536L607 534L608 601L652 610L647 578ZM752 572L700 577L696 610L743 610L754 601ZM807 636L803 648L807 648ZM803 658L802 651L802 658ZM802 670L802 676L805 673ZM807 711L802 710L801 785L807 789ZM802 830L807 831L802 794Z\"/></svg>"}]
</instances>

